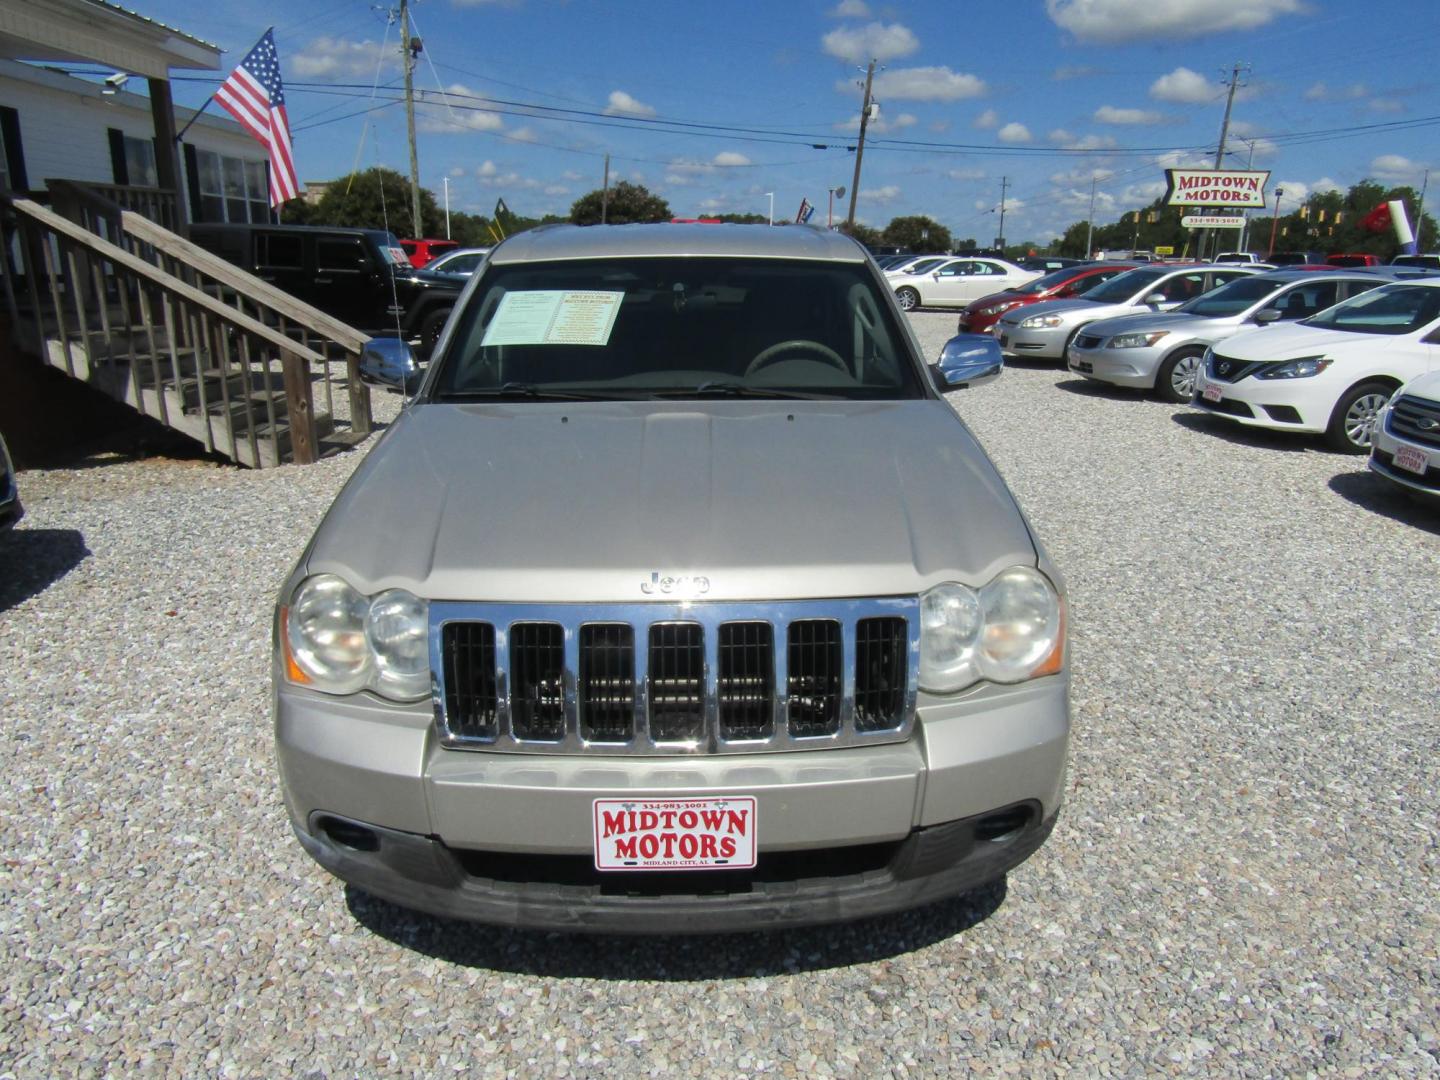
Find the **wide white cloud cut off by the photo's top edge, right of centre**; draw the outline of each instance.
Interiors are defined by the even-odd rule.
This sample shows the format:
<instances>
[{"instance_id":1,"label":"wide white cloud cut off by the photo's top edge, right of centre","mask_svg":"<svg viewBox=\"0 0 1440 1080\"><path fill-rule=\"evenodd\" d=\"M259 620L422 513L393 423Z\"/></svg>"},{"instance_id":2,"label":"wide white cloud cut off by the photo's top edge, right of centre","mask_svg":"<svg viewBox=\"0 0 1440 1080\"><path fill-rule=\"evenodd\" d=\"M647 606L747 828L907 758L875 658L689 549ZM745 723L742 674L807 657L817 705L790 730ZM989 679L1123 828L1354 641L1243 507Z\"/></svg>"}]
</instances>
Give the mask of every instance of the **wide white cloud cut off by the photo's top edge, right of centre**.
<instances>
[{"instance_id":1,"label":"wide white cloud cut off by the photo's top edge, right of centre","mask_svg":"<svg viewBox=\"0 0 1440 1080\"><path fill-rule=\"evenodd\" d=\"M1092 43L1254 30L1303 10L1302 0L1045 0L1056 26Z\"/></svg>"}]
</instances>

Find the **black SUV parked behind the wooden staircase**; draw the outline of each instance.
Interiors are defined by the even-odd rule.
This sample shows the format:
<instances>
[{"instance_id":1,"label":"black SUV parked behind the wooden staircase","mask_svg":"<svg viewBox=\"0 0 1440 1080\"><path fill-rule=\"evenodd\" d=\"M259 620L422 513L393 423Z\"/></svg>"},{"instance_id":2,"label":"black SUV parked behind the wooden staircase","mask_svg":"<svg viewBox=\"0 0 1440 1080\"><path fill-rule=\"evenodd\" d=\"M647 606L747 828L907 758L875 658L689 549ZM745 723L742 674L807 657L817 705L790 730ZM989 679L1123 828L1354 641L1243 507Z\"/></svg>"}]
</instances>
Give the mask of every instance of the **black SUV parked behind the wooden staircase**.
<instances>
[{"instance_id":1,"label":"black SUV parked behind the wooden staircase","mask_svg":"<svg viewBox=\"0 0 1440 1080\"><path fill-rule=\"evenodd\" d=\"M356 330L428 354L464 281L410 266L395 233L312 225L192 225L190 239Z\"/></svg>"}]
</instances>

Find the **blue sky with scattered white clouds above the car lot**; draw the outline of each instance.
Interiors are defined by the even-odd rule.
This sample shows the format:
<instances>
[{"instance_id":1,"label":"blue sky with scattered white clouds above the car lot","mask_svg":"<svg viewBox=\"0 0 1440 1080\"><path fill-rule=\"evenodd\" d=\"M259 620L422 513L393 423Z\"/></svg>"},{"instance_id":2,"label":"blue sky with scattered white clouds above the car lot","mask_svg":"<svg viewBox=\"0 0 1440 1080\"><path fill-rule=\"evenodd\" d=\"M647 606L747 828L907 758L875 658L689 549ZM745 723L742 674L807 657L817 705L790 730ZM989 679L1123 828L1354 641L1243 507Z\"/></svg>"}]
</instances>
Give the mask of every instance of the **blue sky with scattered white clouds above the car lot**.
<instances>
[{"instance_id":1,"label":"blue sky with scattered white clouds above the car lot","mask_svg":"<svg viewBox=\"0 0 1440 1080\"><path fill-rule=\"evenodd\" d=\"M383 9L131 3L220 45L226 66L275 26L302 179L343 176L354 161L408 170L400 105L348 115L400 85L399 32ZM566 213L600 186L609 153L612 179L644 183L677 216L768 213L773 192L778 219L808 197L822 220L827 190L851 186L845 147L870 56L880 107L857 217L877 226L926 213L956 238L988 240L1002 179L1011 240L1083 219L1093 177L1096 219L1113 220L1164 190L1166 164L1210 163L1236 62L1247 73L1228 161L1244 167L1253 153L1287 204L1364 177L1418 187L1440 164L1440 0L418 0L412 10L425 40L420 181L441 197L448 177L452 207L484 213L497 197L527 215ZM194 105L212 88L177 82L176 99Z\"/></svg>"}]
</instances>

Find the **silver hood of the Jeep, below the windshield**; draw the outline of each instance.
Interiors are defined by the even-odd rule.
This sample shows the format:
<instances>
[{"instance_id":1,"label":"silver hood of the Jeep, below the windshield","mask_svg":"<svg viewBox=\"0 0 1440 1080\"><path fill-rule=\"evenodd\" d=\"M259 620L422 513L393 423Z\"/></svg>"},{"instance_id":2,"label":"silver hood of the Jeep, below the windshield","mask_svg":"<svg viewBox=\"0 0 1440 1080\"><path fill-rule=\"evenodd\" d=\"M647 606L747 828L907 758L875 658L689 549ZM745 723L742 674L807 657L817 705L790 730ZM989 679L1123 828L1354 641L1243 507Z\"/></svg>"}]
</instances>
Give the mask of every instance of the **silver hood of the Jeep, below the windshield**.
<instances>
[{"instance_id":1,"label":"silver hood of the Jeep, below the windshield","mask_svg":"<svg viewBox=\"0 0 1440 1080\"><path fill-rule=\"evenodd\" d=\"M428 599L916 593L1035 564L942 400L420 403L356 469L304 569Z\"/></svg>"}]
</instances>

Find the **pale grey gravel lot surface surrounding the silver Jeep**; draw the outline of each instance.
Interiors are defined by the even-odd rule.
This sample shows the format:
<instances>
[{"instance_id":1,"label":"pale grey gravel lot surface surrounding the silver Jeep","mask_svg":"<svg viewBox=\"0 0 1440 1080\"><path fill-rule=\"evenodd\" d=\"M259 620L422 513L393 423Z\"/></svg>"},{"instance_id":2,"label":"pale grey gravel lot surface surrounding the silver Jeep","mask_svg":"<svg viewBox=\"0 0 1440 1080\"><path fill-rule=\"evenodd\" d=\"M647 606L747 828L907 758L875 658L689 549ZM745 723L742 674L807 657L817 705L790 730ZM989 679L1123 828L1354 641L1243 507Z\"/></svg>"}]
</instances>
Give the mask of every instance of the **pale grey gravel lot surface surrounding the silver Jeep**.
<instances>
[{"instance_id":1,"label":"pale grey gravel lot surface surrounding the silver Jeep","mask_svg":"<svg viewBox=\"0 0 1440 1080\"><path fill-rule=\"evenodd\" d=\"M721 940L432 920L304 855L272 592L357 455L23 474L0 1076L1440 1074L1440 513L1056 369L953 402L1068 577L1060 825L984 894Z\"/></svg>"}]
</instances>

